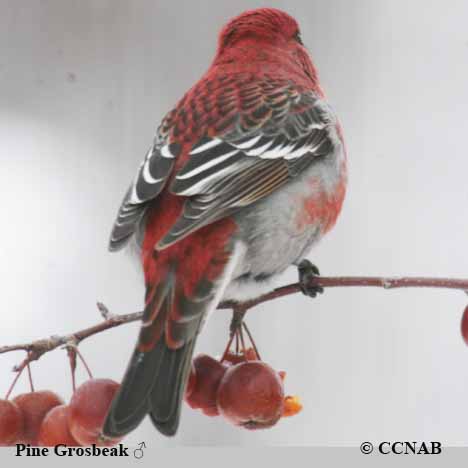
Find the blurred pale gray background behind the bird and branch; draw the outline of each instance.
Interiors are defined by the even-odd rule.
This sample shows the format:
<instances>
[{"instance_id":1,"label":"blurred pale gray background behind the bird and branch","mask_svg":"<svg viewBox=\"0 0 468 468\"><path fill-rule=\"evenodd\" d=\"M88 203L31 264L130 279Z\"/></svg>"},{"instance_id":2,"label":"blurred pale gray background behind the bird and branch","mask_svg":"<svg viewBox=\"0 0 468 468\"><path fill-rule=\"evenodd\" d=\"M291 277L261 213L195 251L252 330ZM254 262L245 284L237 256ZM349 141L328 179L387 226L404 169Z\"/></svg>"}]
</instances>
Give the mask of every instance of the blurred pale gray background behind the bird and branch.
<instances>
[{"instance_id":1,"label":"blurred pale gray background behind the bird and branch","mask_svg":"<svg viewBox=\"0 0 468 468\"><path fill-rule=\"evenodd\" d=\"M310 258L327 275L467 277L468 3L268 5L299 20L349 152L342 216ZM160 119L209 65L222 24L258 6L0 0L0 345L90 326L97 300L114 313L141 308L138 268L107 252L121 197ZM284 276L295 280L294 270ZM303 412L248 432L185 407L175 438L146 420L126 443L467 445L467 302L451 291L350 288L265 304L247 321ZM198 351L220 354L228 323L214 314ZM137 329L83 343L95 376L121 378ZM22 357L0 356L1 394ZM32 370L38 388L70 397L64 351Z\"/></svg>"}]
</instances>

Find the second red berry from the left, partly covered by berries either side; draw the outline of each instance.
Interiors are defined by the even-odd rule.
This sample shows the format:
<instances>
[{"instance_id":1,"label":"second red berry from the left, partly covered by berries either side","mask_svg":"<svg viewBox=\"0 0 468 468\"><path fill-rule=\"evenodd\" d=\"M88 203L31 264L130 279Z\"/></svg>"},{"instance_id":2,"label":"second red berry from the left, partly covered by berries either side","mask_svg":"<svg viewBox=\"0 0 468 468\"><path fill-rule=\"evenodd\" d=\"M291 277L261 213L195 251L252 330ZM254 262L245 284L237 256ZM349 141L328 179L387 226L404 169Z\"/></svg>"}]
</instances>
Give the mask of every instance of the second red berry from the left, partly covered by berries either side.
<instances>
[{"instance_id":1,"label":"second red berry from the left, partly covered by berries either side","mask_svg":"<svg viewBox=\"0 0 468 468\"><path fill-rule=\"evenodd\" d=\"M21 442L36 445L39 428L46 414L55 406L63 405L63 400L54 392L23 393L13 399L23 413L24 429Z\"/></svg>"}]
</instances>

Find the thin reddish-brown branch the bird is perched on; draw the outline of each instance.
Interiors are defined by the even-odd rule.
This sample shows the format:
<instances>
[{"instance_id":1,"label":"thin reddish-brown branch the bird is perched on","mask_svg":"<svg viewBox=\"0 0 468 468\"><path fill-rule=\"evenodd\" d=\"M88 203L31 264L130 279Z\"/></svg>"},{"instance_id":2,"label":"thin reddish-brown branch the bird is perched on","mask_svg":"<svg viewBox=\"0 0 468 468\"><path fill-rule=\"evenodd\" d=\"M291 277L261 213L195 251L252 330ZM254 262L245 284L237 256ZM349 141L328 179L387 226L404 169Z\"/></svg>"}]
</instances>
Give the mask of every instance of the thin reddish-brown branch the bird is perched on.
<instances>
[{"instance_id":1,"label":"thin reddish-brown branch the bird is perched on","mask_svg":"<svg viewBox=\"0 0 468 468\"><path fill-rule=\"evenodd\" d=\"M321 286L323 288L334 287L380 287L384 289L396 288L444 288L458 289L468 293L468 280L451 278L381 278L381 277L325 277L317 276L309 281L309 286ZM283 296L300 292L299 283L289 284L277 288L256 299L243 302L241 304L232 301L224 301L219 304L218 309L241 309L243 312ZM60 346L76 347L81 341L90 336L118 327L125 323L136 322L143 316L143 312L133 312L130 314L114 315L109 312L104 304L98 303L98 309L104 321L92 327L85 328L70 335L51 336L46 339L32 341L30 343L17 344L11 346L1 346L0 354L11 351L26 351L27 357L14 368L14 371L21 373L31 361L39 359L43 354L52 351Z\"/></svg>"}]
</instances>

